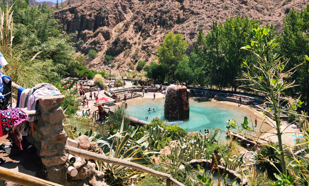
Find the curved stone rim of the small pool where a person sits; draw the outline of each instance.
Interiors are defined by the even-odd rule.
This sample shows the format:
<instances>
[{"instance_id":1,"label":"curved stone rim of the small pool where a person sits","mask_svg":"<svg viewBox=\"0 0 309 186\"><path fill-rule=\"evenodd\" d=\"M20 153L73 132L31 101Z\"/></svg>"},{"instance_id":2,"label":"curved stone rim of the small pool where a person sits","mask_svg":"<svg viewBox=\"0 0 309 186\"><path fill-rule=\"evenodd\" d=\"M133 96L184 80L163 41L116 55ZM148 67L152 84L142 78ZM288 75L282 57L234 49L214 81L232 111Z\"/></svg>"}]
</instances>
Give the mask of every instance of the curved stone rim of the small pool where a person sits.
<instances>
[{"instance_id":1,"label":"curved stone rim of the small pool where a person sits","mask_svg":"<svg viewBox=\"0 0 309 186\"><path fill-rule=\"evenodd\" d=\"M197 165L200 165L201 167L210 166L211 161L207 159L193 159L189 162L192 167L196 168ZM237 182L242 186L248 186L248 179L243 178L240 174L238 174L236 171L229 170L228 168L218 166L220 173L227 173L230 178L237 180Z\"/></svg>"}]
</instances>

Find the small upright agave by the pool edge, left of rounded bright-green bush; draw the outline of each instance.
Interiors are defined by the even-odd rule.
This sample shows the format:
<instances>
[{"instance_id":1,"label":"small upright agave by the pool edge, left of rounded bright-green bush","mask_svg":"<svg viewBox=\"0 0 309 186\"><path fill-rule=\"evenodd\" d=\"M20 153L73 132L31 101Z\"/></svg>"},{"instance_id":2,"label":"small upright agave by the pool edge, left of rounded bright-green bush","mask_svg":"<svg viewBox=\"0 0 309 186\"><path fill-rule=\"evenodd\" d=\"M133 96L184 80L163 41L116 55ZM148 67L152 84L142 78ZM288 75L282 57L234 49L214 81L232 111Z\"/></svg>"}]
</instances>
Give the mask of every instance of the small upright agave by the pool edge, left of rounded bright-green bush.
<instances>
[{"instance_id":1,"label":"small upright agave by the pool edge, left of rounded bright-green bush","mask_svg":"<svg viewBox=\"0 0 309 186\"><path fill-rule=\"evenodd\" d=\"M149 125L149 130L150 137L148 138L148 142L150 146L156 149L158 147L159 140L167 134L167 130L160 127L160 122L154 122L153 126Z\"/></svg>"}]
</instances>

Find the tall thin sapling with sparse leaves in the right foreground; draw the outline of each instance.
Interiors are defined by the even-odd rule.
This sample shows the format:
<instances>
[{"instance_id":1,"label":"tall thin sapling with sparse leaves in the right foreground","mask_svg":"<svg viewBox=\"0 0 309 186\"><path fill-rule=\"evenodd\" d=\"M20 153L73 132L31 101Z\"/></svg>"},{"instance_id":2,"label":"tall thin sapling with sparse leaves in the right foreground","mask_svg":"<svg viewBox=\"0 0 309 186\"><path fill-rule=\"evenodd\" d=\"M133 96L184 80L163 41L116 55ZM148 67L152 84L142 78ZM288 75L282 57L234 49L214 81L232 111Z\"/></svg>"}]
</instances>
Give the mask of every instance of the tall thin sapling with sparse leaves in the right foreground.
<instances>
[{"instance_id":1,"label":"tall thin sapling with sparse leaves in the right foreground","mask_svg":"<svg viewBox=\"0 0 309 186\"><path fill-rule=\"evenodd\" d=\"M289 100L284 97L284 92L287 89L296 86L293 85L294 82L290 82L289 78L294 73L297 66L295 66L293 69L287 70L287 62L281 62L279 55L273 54L272 50L278 45L278 43L274 43L273 40L268 40L269 29L265 28L264 26L260 28L258 24L256 24L252 31L254 35L251 41L251 45L242 47L242 49L254 53L258 57L258 61L256 65L248 65L246 61L243 62L245 68L247 68L246 72L243 71L243 79L248 80L251 83L250 86L253 85L252 89L269 95L266 99L270 103L268 108L269 112L273 113L275 124L273 123L272 119L267 117L265 117L265 120L263 120L263 124L273 127L276 129L276 132L267 132L263 130L262 126L260 127L260 130L262 130L263 133L269 133L270 135L276 135L278 137L279 149L276 149L276 154L280 154L281 167L277 167L277 171L286 176L286 160L284 151L286 149L291 149L293 146L284 144L282 142L282 135L292 132L284 131L284 128L281 125L280 115L281 112L285 112L287 114L292 112L296 114L296 109L302 104L302 102L297 101L296 103L283 105L284 102L289 102ZM286 107L286 109L282 109L282 107ZM228 129L237 129L240 132L244 132L251 136L256 136L256 132L260 132L256 131L253 126L251 127L247 117L244 118L241 126L239 126L235 120L230 122L230 124L231 125L227 127ZM262 138L259 139L265 140ZM288 147L284 149L283 145Z\"/></svg>"}]
</instances>

